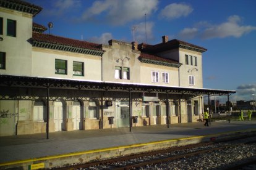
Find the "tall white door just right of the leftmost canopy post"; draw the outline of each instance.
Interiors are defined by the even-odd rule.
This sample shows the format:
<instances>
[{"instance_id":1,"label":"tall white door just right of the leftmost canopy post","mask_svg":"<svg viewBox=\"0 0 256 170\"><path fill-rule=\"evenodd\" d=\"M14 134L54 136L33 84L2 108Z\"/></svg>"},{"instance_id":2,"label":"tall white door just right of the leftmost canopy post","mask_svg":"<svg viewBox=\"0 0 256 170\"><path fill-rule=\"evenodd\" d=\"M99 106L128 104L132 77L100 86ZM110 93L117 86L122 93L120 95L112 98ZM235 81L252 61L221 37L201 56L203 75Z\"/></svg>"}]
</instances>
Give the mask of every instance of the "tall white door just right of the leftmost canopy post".
<instances>
[{"instance_id":1,"label":"tall white door just right of the leftmost canopy post","mask_svg":"<svg viewBox=\"0 0 256 170\"><path fill-rule=\"evenodd\" d=\"M54 102L54 124L55 131L62 131L61 126L63 123L63 112L62 112L62 103Z\"/></svg>"}]
</instances>

